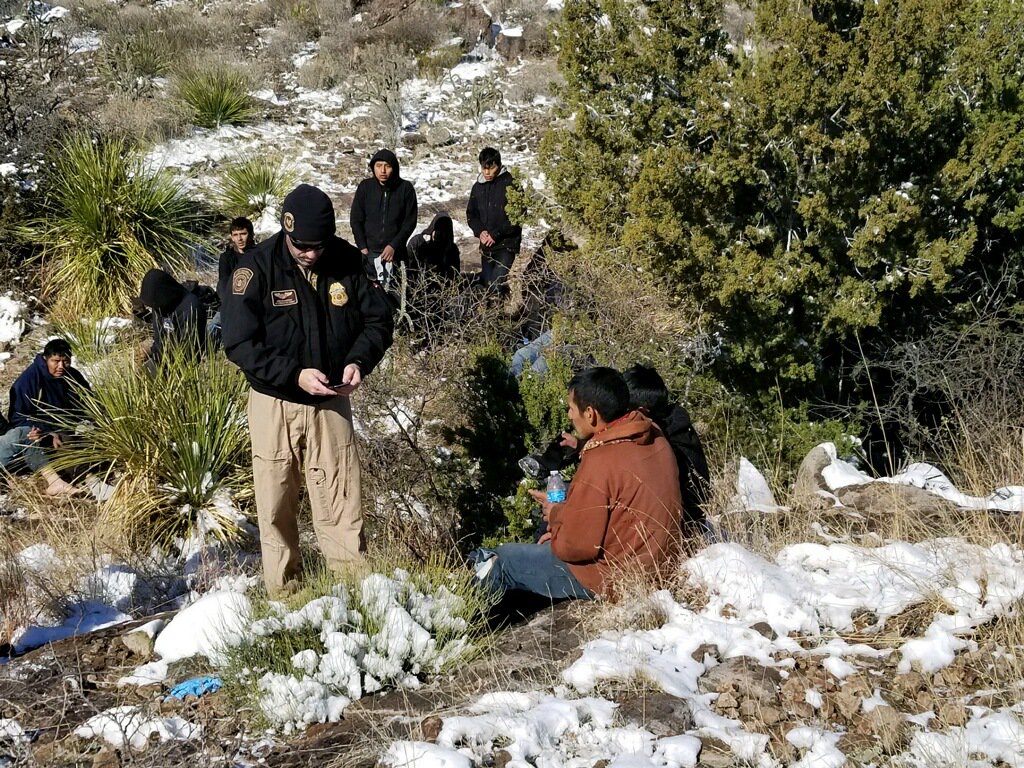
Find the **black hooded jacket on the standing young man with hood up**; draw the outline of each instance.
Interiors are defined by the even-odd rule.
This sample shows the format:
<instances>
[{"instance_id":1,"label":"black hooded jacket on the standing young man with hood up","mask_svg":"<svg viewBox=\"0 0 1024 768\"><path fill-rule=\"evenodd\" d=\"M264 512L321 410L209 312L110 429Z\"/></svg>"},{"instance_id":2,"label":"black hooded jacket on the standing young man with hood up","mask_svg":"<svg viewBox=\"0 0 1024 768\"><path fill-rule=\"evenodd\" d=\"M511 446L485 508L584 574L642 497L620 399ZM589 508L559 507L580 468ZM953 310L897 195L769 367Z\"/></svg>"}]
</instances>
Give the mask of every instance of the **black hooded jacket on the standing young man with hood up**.
<instances>
[{"instance_id":1,"label":"black hooded jacket on the standing young man with hood up","mask_svg":"<svg viewBox=\"0 0 1024 768\"><path fill-rule=\"evenodd\" d=\"M374 176L359 182L352 198L349 223L356 248L380 252L385 246L391 246L396 260L402 261L406 258L406 243L416 229L419 213L416 189L401 178L398 158L387 150L370 159L371 172L374 163L381 160L394 169L391 178L387 184L381 184Z\"/></svg>"}]
</instances>

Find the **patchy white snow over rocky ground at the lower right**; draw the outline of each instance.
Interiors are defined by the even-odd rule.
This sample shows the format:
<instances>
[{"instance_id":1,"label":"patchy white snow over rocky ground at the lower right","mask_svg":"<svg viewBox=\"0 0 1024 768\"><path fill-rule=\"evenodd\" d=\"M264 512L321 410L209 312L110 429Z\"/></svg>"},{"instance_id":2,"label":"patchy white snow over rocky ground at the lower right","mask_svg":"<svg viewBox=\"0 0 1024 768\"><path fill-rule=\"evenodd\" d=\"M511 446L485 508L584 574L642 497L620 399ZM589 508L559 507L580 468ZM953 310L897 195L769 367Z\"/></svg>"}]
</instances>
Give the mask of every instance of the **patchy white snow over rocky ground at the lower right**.
<instances>
[{"instance_id":1,"label":"patchy white snow over rocky ground at the lower right","mask_svg":"<svg viewBox=\"0 0 1024 768\"><path fill-rule=\"evenodd\" d=\"M843 476L853 476L840 466ZM885 481L913 481L908 471ZM770 513L776 509L760 473L741 463L737 478L742 503ZM861 480L865 481L865 480ZM943 498L955 488L933 489ZM746 730L739 720L719 715L716 693L702 693L700 678L725 659L739 656L777 667L783 676L800 656L822 658L842 680L858 671L858 658L897 654L898 672L932 673L950 664L955 653L973 648L972 631L994 617L1012 614L1024 600L1024 550L1001 543L988 547L946 538L909 544L890 542L868 548L844 543L796 544L768 560L738 544L708 547L684 565L689 585L707 596L694 609L669 592L652 596L665 623L651 630L605 633L586 644L580 657L562 672L564 687L550 692L495 692L478 699L462 716L443 720L436 744L398 741L388 749L388 766L462 766L478 764L502 749L510 766L568 768L608 760L611 766L692 766L698 737L724 742L743 764L773 768L780 763L767 751L768 737ZM853 632L854 615L871 615L873 629L906 608L941 598L920 637L895 648L850 644L837 633ZM865 613L869 611L869 613ZM775 639L752 627L767 623ZM871 627L858 627L858 635ZM698 654L702 645L715 655ZM697 660L695 656L700 657ZM672 738L655 736L613 719L615 705L593 694L603 684L644 679L684 699L694 727ZM821 693L808 689L805 699L820 708ZM861 703L871 712L887 702L876 690ZM969 708L964 727L929 731L934 713L908 713L916 729L896 764L919 766L988 766L1001 761L1024 767L1024 723L1013 709ZM925 714L930 717L923 717ZM801 768L839 768L847 757L838 743L842 731L798 727L786 736L799 752ZM970 758L970 760L969 760ZM466 762L468 761L468 763Z\"/></svg>"}]
</instances>

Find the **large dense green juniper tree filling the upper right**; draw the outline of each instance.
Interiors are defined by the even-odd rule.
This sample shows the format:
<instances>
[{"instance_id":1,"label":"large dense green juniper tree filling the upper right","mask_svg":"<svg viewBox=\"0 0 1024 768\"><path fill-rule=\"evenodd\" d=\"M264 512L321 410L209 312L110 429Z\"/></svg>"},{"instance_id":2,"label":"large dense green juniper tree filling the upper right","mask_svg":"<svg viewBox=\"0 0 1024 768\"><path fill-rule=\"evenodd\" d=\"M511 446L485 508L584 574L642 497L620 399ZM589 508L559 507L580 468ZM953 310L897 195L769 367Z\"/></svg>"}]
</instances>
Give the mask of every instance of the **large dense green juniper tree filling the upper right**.
<instances>
[{"instance_id":1,"label":"large dense green juniper tree filling the upper right","mask_svg":"<svg viewBox=\"0 0 1024 768\"><path fill-rule=\"evenodd\" d=\"M568 4L574 120L543 152L591 243L702 305L719 376L848 398L861 347L969 323L979 293L1017 301L1024 7L767 0L749 53L726 50L719 16L711 0Z\"/></svg>"}]
</instances>

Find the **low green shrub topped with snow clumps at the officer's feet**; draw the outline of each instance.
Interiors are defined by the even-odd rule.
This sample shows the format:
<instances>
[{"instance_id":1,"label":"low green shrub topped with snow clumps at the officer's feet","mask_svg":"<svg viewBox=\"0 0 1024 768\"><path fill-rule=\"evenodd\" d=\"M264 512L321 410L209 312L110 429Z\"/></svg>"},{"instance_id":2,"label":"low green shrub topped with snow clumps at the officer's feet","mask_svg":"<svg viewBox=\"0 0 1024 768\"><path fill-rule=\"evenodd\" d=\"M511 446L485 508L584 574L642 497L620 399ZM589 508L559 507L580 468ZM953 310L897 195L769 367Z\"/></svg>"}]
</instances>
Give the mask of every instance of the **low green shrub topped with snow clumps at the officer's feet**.
<instances>
[{"instance_id":1,"label":"low green shrub topped with snow clumps at the officer's feet","mask_svg":"<svg viewBox=\"0 0 1024 768\"><path fill-rule=\"evenodd\" d=\"M256 606L247 639L224 651L228 690L285 732L338 720L367 693L416 688L464 660L486 606L469 571L439 567L351 584L326 578L315 591L291 609Z\"/></svg>"}]
</instances>

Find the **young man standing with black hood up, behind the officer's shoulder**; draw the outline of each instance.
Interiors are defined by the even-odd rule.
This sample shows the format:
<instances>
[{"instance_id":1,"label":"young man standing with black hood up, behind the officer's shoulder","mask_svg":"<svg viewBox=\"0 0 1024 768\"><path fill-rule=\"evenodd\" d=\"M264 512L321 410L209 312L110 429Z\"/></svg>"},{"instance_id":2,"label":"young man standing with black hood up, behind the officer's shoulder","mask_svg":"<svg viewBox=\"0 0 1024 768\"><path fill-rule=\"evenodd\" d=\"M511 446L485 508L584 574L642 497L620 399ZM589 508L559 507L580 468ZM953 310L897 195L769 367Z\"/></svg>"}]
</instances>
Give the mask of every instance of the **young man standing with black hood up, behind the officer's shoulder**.
<instances>
[{"instance_id":1,"label":"young man standing with black hood up, behind the officer's shoulder","mask_svg":"<svg viewBox=\"0 0 1024 768\"><path fill-rule=\"evenodd\" d=\"M406 243L416 229L419 209L416 189L401 177L393 152L381 150L374 155L370 173L355 188L349 223L367 273L387 290L395 262L406 259Z\"/></svg>"}]
</instances>

